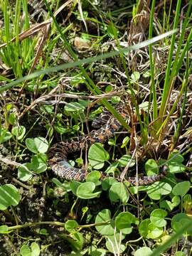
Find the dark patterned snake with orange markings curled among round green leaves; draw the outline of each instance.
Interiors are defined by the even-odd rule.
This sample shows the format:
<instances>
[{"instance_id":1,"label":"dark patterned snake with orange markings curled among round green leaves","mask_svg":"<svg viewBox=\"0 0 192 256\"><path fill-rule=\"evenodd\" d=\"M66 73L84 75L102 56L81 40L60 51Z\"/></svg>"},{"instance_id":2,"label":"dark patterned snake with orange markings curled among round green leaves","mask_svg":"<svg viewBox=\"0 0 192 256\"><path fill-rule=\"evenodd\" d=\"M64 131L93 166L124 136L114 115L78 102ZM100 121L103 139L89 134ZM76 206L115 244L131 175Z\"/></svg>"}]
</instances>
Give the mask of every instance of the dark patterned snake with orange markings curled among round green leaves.
<instances>
[{"instance_id":1,"label":"dark patterned snake with orange markings curled among round green leaves","mask_svg":"<svg viewBox=\"0 0 192 256\"><path fill-rule=\"evenodd\" d=\"M129 114L123 104L117 106L117 112L119 112L124 119L129 119ZM58 142L50 147L48 151L48 164L56 176L65 178L68 181L85 181L87 171L70 166L68 163L68 154L85 150L95 142L105 143L114 135L114 132L117 132L122 127L122 124L120 124L110 112L105 110L92 122L92 126L100 128L93 130L87 135L67 139L65 142ZM166 173L167 166L165 165L157 175L139 176L138 178L128 177L124 181L129 181L132 186L146 186L161 180L161 178L166 176ZM108 176L102 172L100 174L101 178ZM120 181L120 178L117 177L116 179Z\"/></svg>"}]
</instances>

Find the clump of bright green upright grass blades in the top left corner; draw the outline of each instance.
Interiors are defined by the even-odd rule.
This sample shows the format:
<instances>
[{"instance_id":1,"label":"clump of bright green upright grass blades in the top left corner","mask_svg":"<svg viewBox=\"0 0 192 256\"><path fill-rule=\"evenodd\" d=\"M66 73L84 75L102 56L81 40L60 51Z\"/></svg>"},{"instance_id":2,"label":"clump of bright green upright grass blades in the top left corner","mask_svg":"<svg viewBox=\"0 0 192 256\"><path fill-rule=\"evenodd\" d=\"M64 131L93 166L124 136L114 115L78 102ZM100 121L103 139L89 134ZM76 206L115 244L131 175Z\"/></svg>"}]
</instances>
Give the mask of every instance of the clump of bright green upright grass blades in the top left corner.
<instances>
[{"instance_id":1,"label":"clump of bright green upright grass blades in the top left corner","mask_svg":"<svg viewBox=\"0 0 192 256\"><path fill-rule=\"evenodd\" d=\"M27 1L16 1L15 12L12 12L9 1L1 2L1 11L4 16L4 29L1 29L1 43L6 43L6 47L0 51L1 59L4 63L12 68L16 78L21 78L24 70L28 68L28 62L34 57L34 43L36 39L26 38L23 43L18 43L18 36L21 31L29 28L29 18ZM21 12L26 17L21 21ZM14 41L11 41L15 38ZM29 50L30 49L30 50Z\"/></svg>"}]
</instances>

